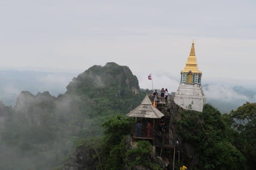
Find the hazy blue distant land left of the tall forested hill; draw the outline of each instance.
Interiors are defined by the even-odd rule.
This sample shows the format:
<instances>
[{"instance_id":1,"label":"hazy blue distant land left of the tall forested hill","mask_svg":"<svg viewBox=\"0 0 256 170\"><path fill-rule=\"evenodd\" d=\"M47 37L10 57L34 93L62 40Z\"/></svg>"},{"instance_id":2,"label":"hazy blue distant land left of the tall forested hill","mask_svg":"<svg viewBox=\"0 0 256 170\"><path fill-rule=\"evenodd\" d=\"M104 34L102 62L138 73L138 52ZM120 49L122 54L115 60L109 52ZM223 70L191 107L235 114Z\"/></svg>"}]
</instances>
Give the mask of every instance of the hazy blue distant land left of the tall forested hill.
<instances>
[{"instance_id":1,"label":"hazy blue distant land left of the tall forested hill","mask_svg":"<svg viewBox=\"0 0 256 170\"><path fill-rule=\"evenodd\" d=\"M66 92L66 86L76 76L78 73L0 70L0 101L14 105L22 91L32 94L48 91L57 96Z\"/></svg>"}]
</instances>

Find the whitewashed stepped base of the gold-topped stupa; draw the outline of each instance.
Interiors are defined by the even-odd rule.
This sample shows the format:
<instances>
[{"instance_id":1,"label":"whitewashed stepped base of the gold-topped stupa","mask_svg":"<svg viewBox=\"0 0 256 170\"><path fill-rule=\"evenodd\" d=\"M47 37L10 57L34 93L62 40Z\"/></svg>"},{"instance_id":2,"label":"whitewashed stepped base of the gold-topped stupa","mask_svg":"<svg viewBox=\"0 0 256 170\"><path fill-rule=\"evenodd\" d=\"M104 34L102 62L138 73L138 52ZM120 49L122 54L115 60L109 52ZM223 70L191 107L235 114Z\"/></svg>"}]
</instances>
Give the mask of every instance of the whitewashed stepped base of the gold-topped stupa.
<instances>
[{"instance_id":1,"label":"whitewashed stepped base of the gold-topped stupa","mask_svg":"<svg viewBox=\"0 0 256 170\"><path fill-rule=\"evenodd\" d=\"M174 96L174 102L183 109L202 112L206 97L203 94L201 85L180 83Z\"/></svg>"}]
</instances>

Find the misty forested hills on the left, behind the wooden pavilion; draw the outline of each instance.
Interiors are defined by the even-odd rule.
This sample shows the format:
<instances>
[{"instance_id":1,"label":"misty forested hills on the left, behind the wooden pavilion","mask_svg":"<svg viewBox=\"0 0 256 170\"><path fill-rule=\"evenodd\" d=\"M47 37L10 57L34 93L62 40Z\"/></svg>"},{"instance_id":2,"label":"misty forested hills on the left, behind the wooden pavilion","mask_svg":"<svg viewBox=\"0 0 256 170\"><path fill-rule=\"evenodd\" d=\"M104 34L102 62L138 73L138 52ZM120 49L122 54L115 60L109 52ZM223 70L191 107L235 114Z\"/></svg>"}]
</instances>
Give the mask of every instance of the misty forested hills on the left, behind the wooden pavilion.
<instances>
[{"instance_id":1,"label":"misty forested hills on the left, behind the wooden pavilion","mask_svg":"<svg viewBox=\"0 0 256 170\"><path fill-rule=\"evenodd\" d=\"M103 121L127 114L151 91L140 91L126 66L95 65L57 97L21 92L14 107L0 103L0 169L51 170L82 137L103 134Z\"/></svg>"}]
</instances>

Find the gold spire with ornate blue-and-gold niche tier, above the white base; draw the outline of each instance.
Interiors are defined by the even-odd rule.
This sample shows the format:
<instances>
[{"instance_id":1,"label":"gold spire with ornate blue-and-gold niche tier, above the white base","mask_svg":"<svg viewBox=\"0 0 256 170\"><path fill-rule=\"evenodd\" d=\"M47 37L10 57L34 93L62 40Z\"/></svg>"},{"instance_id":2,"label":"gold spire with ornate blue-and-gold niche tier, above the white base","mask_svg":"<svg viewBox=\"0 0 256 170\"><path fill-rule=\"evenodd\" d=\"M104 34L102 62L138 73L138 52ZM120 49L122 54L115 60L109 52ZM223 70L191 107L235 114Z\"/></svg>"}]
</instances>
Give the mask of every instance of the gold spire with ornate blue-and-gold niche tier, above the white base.
<instances>
[{"instance_id":1,"label":"gold spire with ornate blue-and-gold niche tier, above the white base","mask_svg":"<svg viewBox=\"0 0 256 170\"><path fill-rule=\"evenodd\" d=\"M185 84L201 84L202 72L199 72L197 67L197 57L194 49L194 40L190 50L190 55L187 58L187 63L184 70L181 71L181 83Z\"/></svg>"}]
</instances>

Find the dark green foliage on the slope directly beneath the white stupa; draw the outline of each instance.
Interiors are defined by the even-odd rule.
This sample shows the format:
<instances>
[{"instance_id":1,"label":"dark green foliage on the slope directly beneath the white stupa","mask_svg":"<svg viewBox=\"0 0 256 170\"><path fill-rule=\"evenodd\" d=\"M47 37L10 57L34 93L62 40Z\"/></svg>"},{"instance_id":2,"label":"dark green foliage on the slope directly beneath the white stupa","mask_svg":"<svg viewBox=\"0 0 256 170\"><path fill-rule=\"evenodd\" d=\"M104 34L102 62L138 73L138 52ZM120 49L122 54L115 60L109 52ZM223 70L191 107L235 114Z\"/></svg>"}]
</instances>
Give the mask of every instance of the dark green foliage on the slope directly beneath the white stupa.
<instances>
[{"instance_id":1,"label":"dark green foliage on the slope directly beneath the white stupa","mask_svg":"<svg viewBox=\"0 0 256 170\"><path fill-rule=\"evenodd\" d=\"M229 125L226 115L206 104L203 112L181 113L179 133L193 145L204 169L245 169L244 156L232 145L234 132Z\"/></svg>"}]
</instances>

